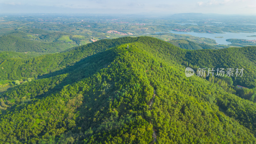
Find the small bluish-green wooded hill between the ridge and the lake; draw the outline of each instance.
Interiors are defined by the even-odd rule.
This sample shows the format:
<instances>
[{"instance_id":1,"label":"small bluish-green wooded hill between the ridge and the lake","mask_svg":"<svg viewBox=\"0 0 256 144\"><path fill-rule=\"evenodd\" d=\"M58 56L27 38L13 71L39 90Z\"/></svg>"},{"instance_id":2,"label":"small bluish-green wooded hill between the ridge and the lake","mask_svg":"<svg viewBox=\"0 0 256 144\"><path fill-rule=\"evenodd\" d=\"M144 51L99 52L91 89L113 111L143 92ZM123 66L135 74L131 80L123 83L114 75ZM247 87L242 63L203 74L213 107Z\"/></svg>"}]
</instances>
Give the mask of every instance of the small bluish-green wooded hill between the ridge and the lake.
<instances>
[{"instance_id":1,"label":"small bluish-green wooded hill between the ridge and the lake","mask_svg":"<svg viewBox=\"0 0 256 144\"><path fill-rule=\"evenodd\" d=\"M199 44L185 39L171 40L169 43L186 50L219 49L209 44Z\"/></svg>"}]
</instances>

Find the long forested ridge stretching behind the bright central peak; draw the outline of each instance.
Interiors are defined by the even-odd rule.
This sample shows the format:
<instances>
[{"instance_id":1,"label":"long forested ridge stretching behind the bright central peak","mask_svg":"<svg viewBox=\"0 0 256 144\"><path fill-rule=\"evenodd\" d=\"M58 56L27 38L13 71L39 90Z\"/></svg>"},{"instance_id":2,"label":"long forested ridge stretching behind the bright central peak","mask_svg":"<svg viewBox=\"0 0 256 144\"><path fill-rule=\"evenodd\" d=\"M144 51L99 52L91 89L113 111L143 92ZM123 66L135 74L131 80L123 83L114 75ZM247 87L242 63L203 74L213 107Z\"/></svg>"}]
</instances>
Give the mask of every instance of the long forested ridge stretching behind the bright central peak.
<instances>
[{"instance_id":1,"label":"long forested ridge stretching behind the bright central peak","mask_svg":"<svg viewBox=\"0 0 256 144\"><path fill-rule=\"evenodd\" d=\"M100 40L95 43L76 47L68 52L43 55L27 60L5 60L0 64L0 80L17 80L38 77L66 68L83 58L102 52L108 48L132 42L144 43L145 49L166 60L194 68L244 68L243 77L232 77L234 85L249 88L256 87L255 47L227 48L221 50L183 50L162 40L152 37L123 37L112 40Z\"/></svg>"}]
</instances>

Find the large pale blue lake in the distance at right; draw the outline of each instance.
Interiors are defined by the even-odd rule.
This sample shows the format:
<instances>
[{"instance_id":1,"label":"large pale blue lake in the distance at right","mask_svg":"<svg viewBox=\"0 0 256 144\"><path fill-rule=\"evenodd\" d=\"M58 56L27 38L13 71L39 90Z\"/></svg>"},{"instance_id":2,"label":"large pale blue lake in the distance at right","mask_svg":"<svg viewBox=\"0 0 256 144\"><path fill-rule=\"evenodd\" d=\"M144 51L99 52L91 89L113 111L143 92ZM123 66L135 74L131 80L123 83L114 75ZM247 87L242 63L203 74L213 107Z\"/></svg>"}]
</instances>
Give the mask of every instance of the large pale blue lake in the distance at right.
<instances>
[{"instance_id":1,"label":"large pale blue lake in the distance at right","mask_svg":"<svg viewBox=\"0 0 256 144\"><path fill-rule=\"evenodd\" d=\"M256 35L256 33L228 33L225 34L211 34L211 33L196 33L196 32L178 32L178 31L170 31L173 34L185 34L185 35L192 35L197 37L206 37L216 40L218 44L231 44L231 42L226 41L226 39L236 38L236 39L247 39L247 40L254 40L256 37L248 37L252 35ZM217 36L222 36L223 38L216 38Z\"/></svg>"}]
</instances>

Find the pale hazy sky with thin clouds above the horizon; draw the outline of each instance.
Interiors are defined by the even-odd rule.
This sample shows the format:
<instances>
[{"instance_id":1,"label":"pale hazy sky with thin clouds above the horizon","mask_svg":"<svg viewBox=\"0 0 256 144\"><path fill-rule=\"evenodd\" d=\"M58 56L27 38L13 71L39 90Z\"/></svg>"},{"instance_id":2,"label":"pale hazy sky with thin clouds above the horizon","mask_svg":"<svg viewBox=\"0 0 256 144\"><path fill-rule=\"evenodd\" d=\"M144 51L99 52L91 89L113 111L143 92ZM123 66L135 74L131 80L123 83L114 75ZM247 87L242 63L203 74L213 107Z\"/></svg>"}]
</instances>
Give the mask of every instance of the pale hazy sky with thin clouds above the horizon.
<instances>
[{"instance_id":1,"label":"pale hazy sky with thin clouds above the horizon","mask_svg":"<svg viewBox=\"0 0 256 144\"><path fill-rule=\"evenodd\" d=\"M0 13L256 15L256 0L0 0Z\"/></svg>"}]
</instances>

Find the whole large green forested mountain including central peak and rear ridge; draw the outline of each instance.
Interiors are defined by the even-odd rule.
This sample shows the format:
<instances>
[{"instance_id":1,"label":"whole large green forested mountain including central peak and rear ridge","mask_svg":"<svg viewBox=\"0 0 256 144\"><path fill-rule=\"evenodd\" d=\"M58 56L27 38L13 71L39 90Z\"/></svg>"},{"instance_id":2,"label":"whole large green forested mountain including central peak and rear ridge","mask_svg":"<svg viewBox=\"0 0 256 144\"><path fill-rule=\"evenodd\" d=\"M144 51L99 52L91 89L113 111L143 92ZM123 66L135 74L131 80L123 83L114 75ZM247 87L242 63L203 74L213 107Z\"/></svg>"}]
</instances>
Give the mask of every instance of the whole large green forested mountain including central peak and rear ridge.
<instances>
[{"instance_id":1,"label":"whole large green forested mountain including central peak and rear ridge","mask_svg":"<svg viewBox=\"0 0 256 144\"><path fill-rule=\"evenodd\" d=\"M254 51L189 51L152 37L123 37L5 60L1 80L34 80L0 93L0 141L256 143L253 101L184 74L186 65L244 67L234 84L255 87Z\"/></svg>"}]
</instances>

